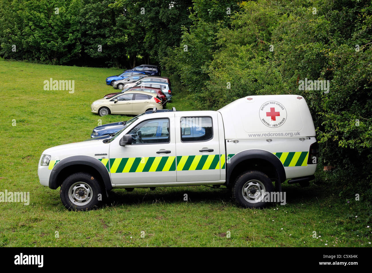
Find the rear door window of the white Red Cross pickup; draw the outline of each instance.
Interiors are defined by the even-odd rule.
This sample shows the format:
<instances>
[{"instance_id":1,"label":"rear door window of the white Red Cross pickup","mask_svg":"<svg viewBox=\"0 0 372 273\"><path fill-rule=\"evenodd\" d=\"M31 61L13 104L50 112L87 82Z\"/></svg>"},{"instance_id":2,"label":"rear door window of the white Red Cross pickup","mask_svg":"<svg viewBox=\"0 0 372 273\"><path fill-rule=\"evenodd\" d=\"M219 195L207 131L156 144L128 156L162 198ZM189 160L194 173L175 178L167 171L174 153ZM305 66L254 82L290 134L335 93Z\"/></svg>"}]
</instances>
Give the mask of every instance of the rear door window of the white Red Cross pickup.
<instances>
[{"instance_id":1,"label":"rear door window of the white Red Cross pickup","mask_svg":"<svg viewBox=\"0 0 372 273\"><path fill-rule=\"evenodd\" d=\"M202 142L213 138L211 117L182 117L181 142Z\"/></svg>"}]
</instances>

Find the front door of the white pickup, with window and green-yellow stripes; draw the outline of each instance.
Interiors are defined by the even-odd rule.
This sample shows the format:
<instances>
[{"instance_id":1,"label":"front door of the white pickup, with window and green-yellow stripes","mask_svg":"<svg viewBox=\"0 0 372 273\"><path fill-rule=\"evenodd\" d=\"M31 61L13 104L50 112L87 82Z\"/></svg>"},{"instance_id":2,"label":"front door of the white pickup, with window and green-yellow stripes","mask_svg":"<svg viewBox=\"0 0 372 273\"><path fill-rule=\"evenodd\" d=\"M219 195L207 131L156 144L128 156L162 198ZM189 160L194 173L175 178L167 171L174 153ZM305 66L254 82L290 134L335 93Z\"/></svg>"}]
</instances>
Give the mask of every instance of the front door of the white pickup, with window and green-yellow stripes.
<instances>
[{"instance_id":1,"label":"front door of the white pickup, with window and green-yellow stripes","mask_svg":"<svg viewBox=\"0 0 372 273\"><path fill-rule=\"evenodd\" d=\"M113 184L176 182L174 116L164 114L129 129L132 145L120 146L120 136L110 143Z\"/></svg>"}]
</instances>

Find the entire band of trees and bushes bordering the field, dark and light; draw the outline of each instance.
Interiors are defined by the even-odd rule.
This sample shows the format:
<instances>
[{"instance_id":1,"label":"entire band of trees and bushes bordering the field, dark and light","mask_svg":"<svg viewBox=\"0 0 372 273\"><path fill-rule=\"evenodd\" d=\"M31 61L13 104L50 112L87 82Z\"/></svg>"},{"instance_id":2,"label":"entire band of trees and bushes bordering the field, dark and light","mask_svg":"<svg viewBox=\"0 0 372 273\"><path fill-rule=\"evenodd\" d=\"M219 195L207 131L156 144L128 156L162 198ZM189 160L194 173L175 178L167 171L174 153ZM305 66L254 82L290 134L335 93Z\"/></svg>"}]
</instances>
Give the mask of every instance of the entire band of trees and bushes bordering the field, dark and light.
<instances>
[{"instance_id":1,"label":"entire band of trees and bushes bordering the field, dark and light","mask_svg":"<svg viewBox=\"0 0 372 273\"><path fill-rule=\"evenodd\" d=\"M320 165L336 167L334 188L371 200L371 1L0 0L0 25L1 57L161 64L203 109L246 95L302 95ZM329 90L304 90L305 79L329 81Z\"/></svg>"}]
</instances>

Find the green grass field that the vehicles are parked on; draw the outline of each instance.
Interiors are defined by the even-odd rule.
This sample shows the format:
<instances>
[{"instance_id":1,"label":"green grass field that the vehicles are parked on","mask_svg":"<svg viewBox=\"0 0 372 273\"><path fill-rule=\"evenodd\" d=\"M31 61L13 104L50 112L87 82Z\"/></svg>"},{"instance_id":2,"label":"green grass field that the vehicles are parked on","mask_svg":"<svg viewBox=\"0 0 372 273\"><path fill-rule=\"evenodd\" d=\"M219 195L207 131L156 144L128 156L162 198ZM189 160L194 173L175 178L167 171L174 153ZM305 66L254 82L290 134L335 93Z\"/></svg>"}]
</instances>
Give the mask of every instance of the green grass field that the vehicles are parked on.
<instances>
[{"instance_id":1,"label":"green grass field that the vehicles are parked on","mask_svg":"<svg viewBox=\"0 0 372 273\"><path fill-rule=\"evenodd\" d=\"M241 209L227 189L203 186L113 190L100 209L65 210L59 190L39 184L40 155L88 139L99 119L105 124L129 118L90 112L92 101L113 90L105 78L119 72L0 60L0 191L30 193L28 206L0 203L0 246L371 246L371 219L358 214L363 201L347 203L325 185L284 184L287 204L264 210ZM49 78L74 80L75 92L44 91ZM175 86L167 107L192 110Z\"/></svg>"}]
</instances>

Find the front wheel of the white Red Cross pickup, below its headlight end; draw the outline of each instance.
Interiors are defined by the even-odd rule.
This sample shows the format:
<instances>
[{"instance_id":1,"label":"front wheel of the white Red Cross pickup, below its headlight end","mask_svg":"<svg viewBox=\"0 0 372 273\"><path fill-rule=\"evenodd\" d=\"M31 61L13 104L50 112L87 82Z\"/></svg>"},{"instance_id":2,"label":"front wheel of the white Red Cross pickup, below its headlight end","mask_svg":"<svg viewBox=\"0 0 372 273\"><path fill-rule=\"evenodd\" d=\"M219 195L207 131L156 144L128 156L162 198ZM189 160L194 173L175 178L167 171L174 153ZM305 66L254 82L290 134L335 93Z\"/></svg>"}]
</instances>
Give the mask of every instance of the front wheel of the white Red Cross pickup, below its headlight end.
<instances>
[{"instance_id":1,"label":"front wheel of the white Red Cross pickup, below its headlight end","mask_svg":"<svg viewBox=\"0 0 372 273\"><path fill-rule=\"evenodd\" d=\"M91 210L99 206L103 194L96 178L88 173L78 172L62 182L60 197L68 210Z\"/></svg>"}]
</instances>

